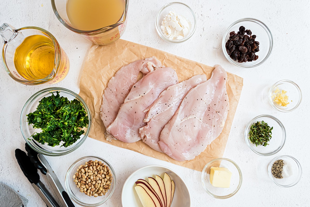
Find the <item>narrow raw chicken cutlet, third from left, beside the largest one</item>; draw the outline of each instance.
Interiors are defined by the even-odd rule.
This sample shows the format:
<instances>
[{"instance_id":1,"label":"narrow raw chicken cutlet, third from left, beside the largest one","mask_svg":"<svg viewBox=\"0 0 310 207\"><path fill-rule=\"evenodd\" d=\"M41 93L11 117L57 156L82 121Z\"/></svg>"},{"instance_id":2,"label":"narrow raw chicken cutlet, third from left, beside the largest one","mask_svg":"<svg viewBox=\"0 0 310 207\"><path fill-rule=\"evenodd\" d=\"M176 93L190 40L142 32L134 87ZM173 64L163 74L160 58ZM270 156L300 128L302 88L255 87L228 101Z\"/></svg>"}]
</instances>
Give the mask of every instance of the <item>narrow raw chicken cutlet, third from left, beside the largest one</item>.
<instances>
[{"instance_id":1,"label":"narrow raw chicken cutlet, third from left, beside the largest one","mask_svg":"<svg viewBox=\"0 0 310 207\"><path fill-rule=\"evenodd\" d=\"M187 92L206 80L206 75L195 75L164 90L156 101L145 110L147 113L144 122L147 122L148 125L139 129L143 142L154 150L163 152L158 145L162 129L175 114Z\"/></svg>"}]
</instances>

